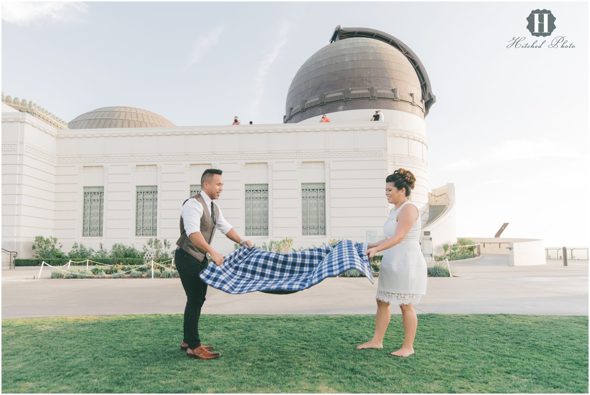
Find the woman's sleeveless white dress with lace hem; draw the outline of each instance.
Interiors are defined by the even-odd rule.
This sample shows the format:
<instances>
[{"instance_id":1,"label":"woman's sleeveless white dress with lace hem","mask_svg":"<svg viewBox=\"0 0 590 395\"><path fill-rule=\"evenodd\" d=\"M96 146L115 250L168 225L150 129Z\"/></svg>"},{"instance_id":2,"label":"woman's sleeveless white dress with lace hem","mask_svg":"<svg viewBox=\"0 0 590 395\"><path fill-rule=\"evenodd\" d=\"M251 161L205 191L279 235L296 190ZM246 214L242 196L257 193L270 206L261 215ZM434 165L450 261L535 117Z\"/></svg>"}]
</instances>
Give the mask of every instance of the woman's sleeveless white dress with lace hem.
<instances>
[{"instance_id":1,"label":"woman's sleeveless white dress with lace hem","mask_svg":"<svg viewBox=\"0 0 590 395\"><path fill-rule=\"evenodd\" d=\"M383 225L383 233L386 237L395 235L395 228L398 225L396 217L406 204L414 205L407 201L397 210L394 208L389 213ZM404 240L383 251L376 296L379 301L398 305L416 304L421 295L426 295L428 275L426 260L420 249L421 228L421 219L418 216Z\"/></svg>"}]
</instances>

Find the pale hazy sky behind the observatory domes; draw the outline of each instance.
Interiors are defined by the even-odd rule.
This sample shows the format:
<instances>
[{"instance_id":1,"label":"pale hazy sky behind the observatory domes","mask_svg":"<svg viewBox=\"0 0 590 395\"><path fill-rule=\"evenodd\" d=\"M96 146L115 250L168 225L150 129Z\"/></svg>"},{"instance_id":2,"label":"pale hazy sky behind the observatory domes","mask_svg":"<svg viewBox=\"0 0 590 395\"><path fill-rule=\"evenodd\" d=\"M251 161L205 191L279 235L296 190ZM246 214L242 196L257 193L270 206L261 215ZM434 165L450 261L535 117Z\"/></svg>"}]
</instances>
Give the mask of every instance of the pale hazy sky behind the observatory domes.
<instances>
[{"instance_id":1,"label":"pale hazy sky behind the observatory domes","mask_svg":"<svg viewBox=\"0 0 590 395\"><path fill-rule=\"evenodd\" d=\"M549 37L526 29L537 8ZM588 246L587 2L3 2L2 91L67 121L133 106L179 126L282 123L336 25L388 32L424 64L428 183L454 182L458 236L509 222L503 237ZM575 48L548 48L559 35Z\"/></svg>"}]
</instances>

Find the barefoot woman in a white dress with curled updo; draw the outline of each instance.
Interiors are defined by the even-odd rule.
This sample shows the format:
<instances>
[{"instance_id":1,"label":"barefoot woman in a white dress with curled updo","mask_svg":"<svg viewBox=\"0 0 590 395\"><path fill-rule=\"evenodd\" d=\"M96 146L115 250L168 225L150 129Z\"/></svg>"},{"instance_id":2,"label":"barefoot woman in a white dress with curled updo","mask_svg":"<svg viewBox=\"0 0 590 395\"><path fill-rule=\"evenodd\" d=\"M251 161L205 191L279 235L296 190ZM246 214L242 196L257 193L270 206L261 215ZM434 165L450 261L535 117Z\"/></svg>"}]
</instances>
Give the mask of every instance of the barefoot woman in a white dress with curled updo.
<instances>
[{"instance_id":1,"label":"barefoot woman in a white dress with curled updo","mask_svg":"<svg viewBox=\"0 0 590 395\"><path fill-rule=\"evenodd\" d=\"M385 179L385 196L395 207L383 226L388 239L369 244L366 254L373 257L383 251L377 286L377 315L375 334L356 348L383 348L383 336L391 318L389 305L395 303L402 310L404 345L391 353L396 357L414 354L414 337L418 317L414 305L426 294L426 261L420 243L421 219L418 208L408 200L416 178L406 169L398 169Z\"/></svg>"}]
</instances>

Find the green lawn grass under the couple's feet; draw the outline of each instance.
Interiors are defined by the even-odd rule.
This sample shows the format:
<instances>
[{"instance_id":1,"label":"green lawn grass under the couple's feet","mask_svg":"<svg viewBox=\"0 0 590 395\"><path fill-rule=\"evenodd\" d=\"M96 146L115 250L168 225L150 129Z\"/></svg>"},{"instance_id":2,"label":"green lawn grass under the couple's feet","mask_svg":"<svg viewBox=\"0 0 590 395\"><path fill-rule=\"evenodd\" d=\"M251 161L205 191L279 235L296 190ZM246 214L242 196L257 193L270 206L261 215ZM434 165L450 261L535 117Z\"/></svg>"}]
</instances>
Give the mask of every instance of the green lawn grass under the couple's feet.
<instances>
[{"instance_id":1,"label":"green lawn grass under the couple's feet","mask_svg":"<svg viewBox=\"0 0 590 395\"><path fill-rule=\"evenodd\" d=\"M204 315L221 358L179 350L182 315L5 319L3 392L588 393L588 316L418 316L409 358L394 315Z\"/></svg>"}]
</instances>

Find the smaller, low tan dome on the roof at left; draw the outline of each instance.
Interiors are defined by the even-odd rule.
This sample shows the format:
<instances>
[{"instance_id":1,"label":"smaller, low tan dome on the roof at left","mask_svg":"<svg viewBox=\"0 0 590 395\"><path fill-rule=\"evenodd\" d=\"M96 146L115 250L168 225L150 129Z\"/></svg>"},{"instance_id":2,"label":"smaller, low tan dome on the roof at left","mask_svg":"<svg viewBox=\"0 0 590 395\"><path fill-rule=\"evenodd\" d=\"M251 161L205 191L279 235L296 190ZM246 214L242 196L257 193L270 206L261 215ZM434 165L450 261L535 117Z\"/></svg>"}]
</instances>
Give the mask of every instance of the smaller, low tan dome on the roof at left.
<instances>
[{"instance_id":1,"label":"smaller, low tan dome on the roof at left","mask_svg":"<svg viewBox=\"0 0 590 395\"><path fill-rule=\"evenodd\" d=\"M136 107L102 107L77 116L68 123L70 129L158 128L176 126L168 119Z\"/></svg>"}]
</instances>

